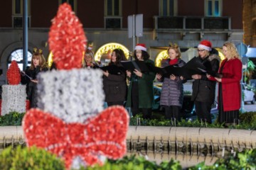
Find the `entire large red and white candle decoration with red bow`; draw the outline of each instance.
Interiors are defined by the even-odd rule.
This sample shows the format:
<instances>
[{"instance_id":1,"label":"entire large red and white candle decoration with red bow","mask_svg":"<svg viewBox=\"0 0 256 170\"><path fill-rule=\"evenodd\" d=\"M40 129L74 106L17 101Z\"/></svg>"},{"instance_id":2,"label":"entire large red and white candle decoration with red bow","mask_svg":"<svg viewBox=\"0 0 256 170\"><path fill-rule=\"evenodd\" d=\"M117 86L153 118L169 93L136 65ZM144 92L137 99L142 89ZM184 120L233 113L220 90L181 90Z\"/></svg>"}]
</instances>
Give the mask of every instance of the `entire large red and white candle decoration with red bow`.
<instances>
[{"instance_id":1,"label":"entire large red and white candle decoration with red bow","mask_svg":"<svg viewBox=\"0 0 256 170\"><path fill-rule=\"evenodd\" d=\"M43 147L65 160L67 169L103 164L126 153L129 117L125 108L103 110L100 70L82 67L86 38L68 4L50 28L50 50L58 70L38 75L38 107L23 118L28 146Z\"/></svg>"}]
</instances>

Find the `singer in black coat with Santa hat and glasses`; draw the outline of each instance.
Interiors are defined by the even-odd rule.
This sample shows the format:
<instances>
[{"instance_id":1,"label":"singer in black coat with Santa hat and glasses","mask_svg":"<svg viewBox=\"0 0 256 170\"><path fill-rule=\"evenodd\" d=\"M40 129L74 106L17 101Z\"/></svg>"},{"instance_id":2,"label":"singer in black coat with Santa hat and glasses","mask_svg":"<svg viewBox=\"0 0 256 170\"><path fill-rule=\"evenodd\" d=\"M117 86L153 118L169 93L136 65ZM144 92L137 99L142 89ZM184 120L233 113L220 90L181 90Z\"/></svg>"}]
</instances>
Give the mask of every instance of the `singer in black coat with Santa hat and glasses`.
<instances>
[{"instance_id":1,"label":"singer in black coat with Santa hat and glasses","mask_svg":"<svg viewBox=\"0 0 256 170\"><path fill-rule=\"evenodd\" d=\"M198 45L198 60L205 65L208 70L218 72L220 57L216 54L211 54L212 44L208 40L202 40ZM211 123L210 109L215 100L215 81L210 81L206 74L192 75L192 98L195 102L196 114L198 120Z\"/></svg>"}]
</instances>

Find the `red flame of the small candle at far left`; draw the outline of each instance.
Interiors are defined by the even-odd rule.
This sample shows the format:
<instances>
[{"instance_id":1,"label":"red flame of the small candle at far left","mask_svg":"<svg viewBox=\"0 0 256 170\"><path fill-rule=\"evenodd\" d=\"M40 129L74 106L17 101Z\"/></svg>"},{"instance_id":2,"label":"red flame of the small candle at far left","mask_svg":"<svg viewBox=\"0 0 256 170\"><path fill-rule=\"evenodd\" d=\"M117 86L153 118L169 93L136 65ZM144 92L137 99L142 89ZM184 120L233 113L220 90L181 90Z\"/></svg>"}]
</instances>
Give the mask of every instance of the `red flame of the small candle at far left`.
<instances>
[{"instance_id":1,"label":"red flame of the small candle at far left","mask_svg":"<svg viewBox=\"0 0 256 170\"><path fill-rule=\"evenodd\" d=\"M11 66L7 70L7 80L11 85L17 85L21 82L21 73L15 60L11 61Z\"/></svg>"}]
</instances>

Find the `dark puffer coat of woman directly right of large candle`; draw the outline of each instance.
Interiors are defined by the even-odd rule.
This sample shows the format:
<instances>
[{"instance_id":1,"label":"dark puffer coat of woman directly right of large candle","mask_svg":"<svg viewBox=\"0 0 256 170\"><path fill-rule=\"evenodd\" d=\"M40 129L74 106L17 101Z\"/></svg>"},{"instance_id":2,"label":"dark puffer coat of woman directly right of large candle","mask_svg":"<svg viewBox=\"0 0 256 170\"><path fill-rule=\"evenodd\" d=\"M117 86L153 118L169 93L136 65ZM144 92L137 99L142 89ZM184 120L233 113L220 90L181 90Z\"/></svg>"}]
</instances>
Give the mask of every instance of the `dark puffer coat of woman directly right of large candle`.
<instances>
[{"instance_id":1,"label":"dark puffer coat of woman directly right of large candle","mask_svg":"<svg viewBox=\"0 0 256 170\"><path fill-rule=\"evenodd\" d=\"M103 76L103 90L106 102L125 101L127 97L127 75L121 72L119 75L109 74Z\"/></svg>"}]
</instances>

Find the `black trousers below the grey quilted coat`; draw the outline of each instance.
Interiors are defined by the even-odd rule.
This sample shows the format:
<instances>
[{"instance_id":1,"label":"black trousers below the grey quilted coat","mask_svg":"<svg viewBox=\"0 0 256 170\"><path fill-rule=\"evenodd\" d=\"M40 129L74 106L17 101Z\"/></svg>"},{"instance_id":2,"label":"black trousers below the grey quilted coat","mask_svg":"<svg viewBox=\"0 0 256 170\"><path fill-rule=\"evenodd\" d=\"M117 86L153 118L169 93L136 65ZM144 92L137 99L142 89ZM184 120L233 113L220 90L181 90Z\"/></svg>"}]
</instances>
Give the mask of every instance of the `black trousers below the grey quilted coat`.
<instances>
[{"instance_id":1,"label":"black trousers below the grey quilted coat","mask_svg":"<svg viewBox=\"0 0 256 170\"><path fill-rule=\"evenodd\" d=\"M181 107L180 106L164 106L164 113L166 119L175 118L181 121Z\"/></svg>"}]
</instances>

